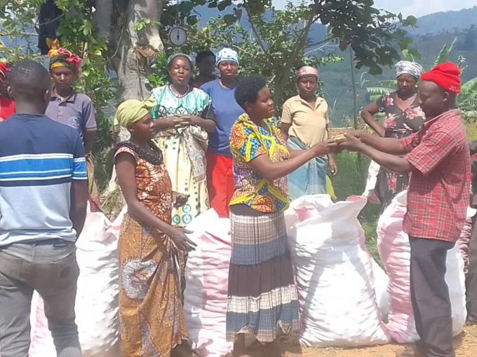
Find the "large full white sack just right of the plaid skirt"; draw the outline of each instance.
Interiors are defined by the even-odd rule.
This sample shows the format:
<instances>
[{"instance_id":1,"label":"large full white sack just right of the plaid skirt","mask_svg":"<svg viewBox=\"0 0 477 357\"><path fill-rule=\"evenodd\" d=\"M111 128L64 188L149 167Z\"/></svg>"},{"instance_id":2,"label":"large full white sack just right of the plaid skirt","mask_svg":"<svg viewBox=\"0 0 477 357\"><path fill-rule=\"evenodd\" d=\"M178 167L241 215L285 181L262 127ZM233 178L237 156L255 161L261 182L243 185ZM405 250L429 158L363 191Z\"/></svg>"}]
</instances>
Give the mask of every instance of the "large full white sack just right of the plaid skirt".
<instances>
[{"instance_id":1,"label":"large full white sack just right of the plaid skirt","mask_svg":"<svg viewBox=\"0 0 477 357\"><path fill-rule=\"evenodd\" d=\"M333 204L328 195L310 195L293 201L285 212L305 346L389 342L372 258L356 218L365 204L366 197Z\"/></svg>"}]
</instances>

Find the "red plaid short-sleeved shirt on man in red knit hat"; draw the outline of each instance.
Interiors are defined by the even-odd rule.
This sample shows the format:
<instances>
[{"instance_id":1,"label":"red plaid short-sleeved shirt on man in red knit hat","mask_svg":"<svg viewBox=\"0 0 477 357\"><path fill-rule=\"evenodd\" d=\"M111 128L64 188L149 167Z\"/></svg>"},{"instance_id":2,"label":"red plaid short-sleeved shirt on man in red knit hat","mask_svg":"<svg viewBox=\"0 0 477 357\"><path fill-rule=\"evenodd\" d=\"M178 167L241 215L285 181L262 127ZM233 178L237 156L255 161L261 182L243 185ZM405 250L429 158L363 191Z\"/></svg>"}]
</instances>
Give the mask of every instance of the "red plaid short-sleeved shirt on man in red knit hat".
<instances>
[{"instance_id":1,"label":"red plaid short-sleeved shirt on man in red knit hat","mask_svg":"<svg viewBox=\"0 0 477 357\"><path fill-rule=\"evenodd\" d=\"M424 122L401 139L414 167L404 231L412 237L457 241L469 206L471 160L458 109Z\"/></svg>"}]
</instances>

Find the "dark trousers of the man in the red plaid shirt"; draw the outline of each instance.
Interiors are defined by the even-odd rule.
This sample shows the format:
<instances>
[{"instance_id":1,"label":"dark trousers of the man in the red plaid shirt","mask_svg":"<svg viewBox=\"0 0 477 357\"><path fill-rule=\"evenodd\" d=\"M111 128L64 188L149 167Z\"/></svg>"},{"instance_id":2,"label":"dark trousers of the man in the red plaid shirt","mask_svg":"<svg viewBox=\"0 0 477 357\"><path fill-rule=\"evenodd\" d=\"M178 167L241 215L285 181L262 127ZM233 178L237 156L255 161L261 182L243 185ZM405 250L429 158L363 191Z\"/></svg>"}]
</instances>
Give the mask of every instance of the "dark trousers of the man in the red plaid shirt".
<instances>
[{"instance_id":1,"label":"dark trousers of the man in the red plaid shirt","mask_svg":"<svg viewBox=\"0 0 477 357\"><path fill-rule=\"evenodd\" d=\"M449 289L445 283L447 251L455 243L409 237L410 290L420 352L426 357L454 357Z\"/></svg>"}]
</instances>

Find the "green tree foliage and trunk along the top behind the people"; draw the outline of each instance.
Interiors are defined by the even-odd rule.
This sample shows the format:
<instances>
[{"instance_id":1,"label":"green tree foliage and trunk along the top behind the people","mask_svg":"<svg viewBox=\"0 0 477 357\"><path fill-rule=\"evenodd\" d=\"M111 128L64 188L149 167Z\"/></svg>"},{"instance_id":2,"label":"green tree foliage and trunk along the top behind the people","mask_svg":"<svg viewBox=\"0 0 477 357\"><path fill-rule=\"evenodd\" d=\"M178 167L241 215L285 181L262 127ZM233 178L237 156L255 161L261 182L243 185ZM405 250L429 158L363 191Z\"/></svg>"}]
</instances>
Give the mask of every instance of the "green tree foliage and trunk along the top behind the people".
<instances>
[{"instance_id":1,"label":"green tree foliage and trunk along the top behind the people","mask_svg":"<svg viewBox=\"0 0 477 357\"><path fill-rule=\"evenodd\" d=\"M45 0L0 0L1 54L12 62L36 58L35 28ZM245 73L260 73L269 80L276 103L295 92L293 73L303 64L324 66L340 60L338 50L316 50L330 44L340 50L351 46L354 64L380 73L398 59L398 50L410 39L403 27L415 18L402 18L373 7L372 0L305 0L276 10L270 0L55 0L63 10L58 35L61 44L83 57L78 89L95 102L101 146L112 142L111 118L103 109L119 100L147 95L149 86L166 82L165 63L173 52L167 31L186 26L189 43L183 52L225 45L241 55ZM227 11L199 29L197 6ZM232 10L232 11L230 11ZM252 33L238 19L247 13ZM312 43L316 23L326 25L328 36ZM13 43L13 45L12 45ZM15 45L16 43L16 45ZM27 45L25 45L25 43Z\"/></svg>"}]
</instances>

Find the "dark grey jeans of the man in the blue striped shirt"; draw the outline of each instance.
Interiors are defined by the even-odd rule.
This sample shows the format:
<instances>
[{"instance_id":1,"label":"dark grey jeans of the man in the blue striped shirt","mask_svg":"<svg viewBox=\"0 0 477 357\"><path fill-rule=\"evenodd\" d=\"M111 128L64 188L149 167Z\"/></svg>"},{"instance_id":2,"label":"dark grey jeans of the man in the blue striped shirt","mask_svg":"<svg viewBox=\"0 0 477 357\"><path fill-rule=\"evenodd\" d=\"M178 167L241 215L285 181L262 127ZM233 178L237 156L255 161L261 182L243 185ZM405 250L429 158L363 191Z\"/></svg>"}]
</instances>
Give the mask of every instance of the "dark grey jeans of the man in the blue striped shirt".
<instances>
[{"instance_id":1,"label":"dark grey jeans of the man in the blue striped shirt","mask_svg":"<svg viewBox=\"0 0 477 357\"><path fill-rule=\"evenodd\" d=\"M49 239L0 247L1 357L28 356L33 290L43 297L57 355L81 356L74 323L78 275L72 242Z\"/></svg>"}]
</instances>

